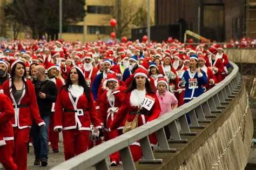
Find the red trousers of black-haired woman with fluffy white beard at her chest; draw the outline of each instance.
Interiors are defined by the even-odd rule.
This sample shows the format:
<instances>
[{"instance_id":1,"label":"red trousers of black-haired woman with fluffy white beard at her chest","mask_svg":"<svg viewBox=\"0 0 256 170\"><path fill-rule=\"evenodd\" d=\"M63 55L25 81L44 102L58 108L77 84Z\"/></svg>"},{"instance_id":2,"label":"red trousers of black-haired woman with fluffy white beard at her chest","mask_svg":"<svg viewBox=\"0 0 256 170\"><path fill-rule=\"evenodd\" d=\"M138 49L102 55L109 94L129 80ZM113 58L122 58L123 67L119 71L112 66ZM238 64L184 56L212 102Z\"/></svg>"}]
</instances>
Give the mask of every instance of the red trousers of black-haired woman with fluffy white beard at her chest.
<instances>
[{"instance_id":1,"label":"red trousers of black-haired woman with fluffy white beard at her chest","mask_svg":"<svg viewBox=\"0 0 256 170\"><path fill-rule=\"evenodd\" d=\"M63 145L65 160L75 157L87 150L90 131L64 130Z\"/></svg>"}]
</instances>

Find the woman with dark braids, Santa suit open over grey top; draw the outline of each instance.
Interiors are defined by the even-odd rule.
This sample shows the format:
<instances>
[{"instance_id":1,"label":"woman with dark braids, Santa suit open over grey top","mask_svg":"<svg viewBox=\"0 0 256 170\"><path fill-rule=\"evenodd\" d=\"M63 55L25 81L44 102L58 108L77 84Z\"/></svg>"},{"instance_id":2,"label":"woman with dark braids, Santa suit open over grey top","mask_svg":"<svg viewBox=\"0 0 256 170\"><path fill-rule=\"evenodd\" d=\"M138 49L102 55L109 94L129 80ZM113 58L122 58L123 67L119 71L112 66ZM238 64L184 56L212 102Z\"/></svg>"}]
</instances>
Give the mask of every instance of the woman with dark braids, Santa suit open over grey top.
<instances>
[{"instance_id":1,"label":"woman with dark braids, Santa suit open over grey top","mask_svg":"<svg viewBox=\"0 0 256 170\"><path fill-rule=\"evenodd\" d=\"M38 126L45 126L45 123L39 114L34 86L25 79L25 64L15 60L10 69L11 78L4 82L2 89L15 108L15 117L11 120L15 139L14 161L18 169L27 169L27 144L32 119Z\"/></svg>"}]
</instances>

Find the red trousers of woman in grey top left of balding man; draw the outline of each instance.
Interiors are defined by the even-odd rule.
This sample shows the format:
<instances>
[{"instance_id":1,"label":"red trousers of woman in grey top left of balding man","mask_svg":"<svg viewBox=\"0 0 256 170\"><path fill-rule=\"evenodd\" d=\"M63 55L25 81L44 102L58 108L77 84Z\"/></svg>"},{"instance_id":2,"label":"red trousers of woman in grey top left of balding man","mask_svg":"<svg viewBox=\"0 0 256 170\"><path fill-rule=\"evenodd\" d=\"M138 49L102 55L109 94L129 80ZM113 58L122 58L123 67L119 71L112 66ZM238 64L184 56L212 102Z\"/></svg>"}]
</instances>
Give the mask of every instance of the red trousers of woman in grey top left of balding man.
<instances>
[{"instance_id":1,"label":"red trousers of woman in grey top left of balding man","mask_svg":"<svg viewBox=\"0 0 256 170\"><path fill-rule=\"evenodd\" d=\"M29 131L30 128L14 127L14 162L21 170L27 169Z\"/></svg>"}]
</instances>

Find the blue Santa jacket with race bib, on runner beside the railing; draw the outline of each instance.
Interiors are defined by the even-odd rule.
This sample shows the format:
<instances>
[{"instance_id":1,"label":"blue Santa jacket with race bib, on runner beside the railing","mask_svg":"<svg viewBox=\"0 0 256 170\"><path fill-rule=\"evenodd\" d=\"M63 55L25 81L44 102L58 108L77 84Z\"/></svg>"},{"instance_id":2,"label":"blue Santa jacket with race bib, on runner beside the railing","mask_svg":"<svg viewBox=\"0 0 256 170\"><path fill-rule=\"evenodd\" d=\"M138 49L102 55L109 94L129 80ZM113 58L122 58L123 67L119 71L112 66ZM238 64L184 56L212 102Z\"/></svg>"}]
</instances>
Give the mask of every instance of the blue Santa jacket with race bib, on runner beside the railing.
<instances>
[{"instance_id":1,"label":"blue Santa jacket with race bib, on runner beside the railing","mask_svg":"<svg viewBox=\"0 0 256 170\"><path fill-rule=\"evenodd\" d=\"M207 76L203 70L201 74L191 73L190 69L187 69L183 74L185 83L185 95L184 100L192 100L204 93L203 85L207 84Z\"/></svg>"}]
</instances>

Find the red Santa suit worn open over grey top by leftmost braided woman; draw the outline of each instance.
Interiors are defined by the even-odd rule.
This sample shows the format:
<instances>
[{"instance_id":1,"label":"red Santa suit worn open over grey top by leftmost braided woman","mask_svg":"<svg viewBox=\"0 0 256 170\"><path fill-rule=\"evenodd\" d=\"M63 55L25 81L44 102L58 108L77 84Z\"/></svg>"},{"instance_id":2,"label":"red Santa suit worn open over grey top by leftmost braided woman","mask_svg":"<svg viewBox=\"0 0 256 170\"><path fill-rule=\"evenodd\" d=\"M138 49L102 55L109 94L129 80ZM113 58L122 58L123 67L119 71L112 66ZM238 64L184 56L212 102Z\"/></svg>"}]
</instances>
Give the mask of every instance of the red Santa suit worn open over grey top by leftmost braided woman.
<instances>
[{"instance_id":1,"label":"red Santa suit worn open over grey top by leftmost braided woman","mask_svg":"<svg viewBox=\"0 0 256 170\"><path fill-rule=\"evenodd\" d=\"M15 116L11 119L11 123L14 127L15 139L14 161L18 169L27 168L27 144L32 119L38 126L45 125L39 114L34 86L30 80L25 79L25 83L26 87L18 103L16 103L12 93L12 80L6 80L2 86L4 93L12 100L15 108Z\"/></svg>"}]
</instances>

